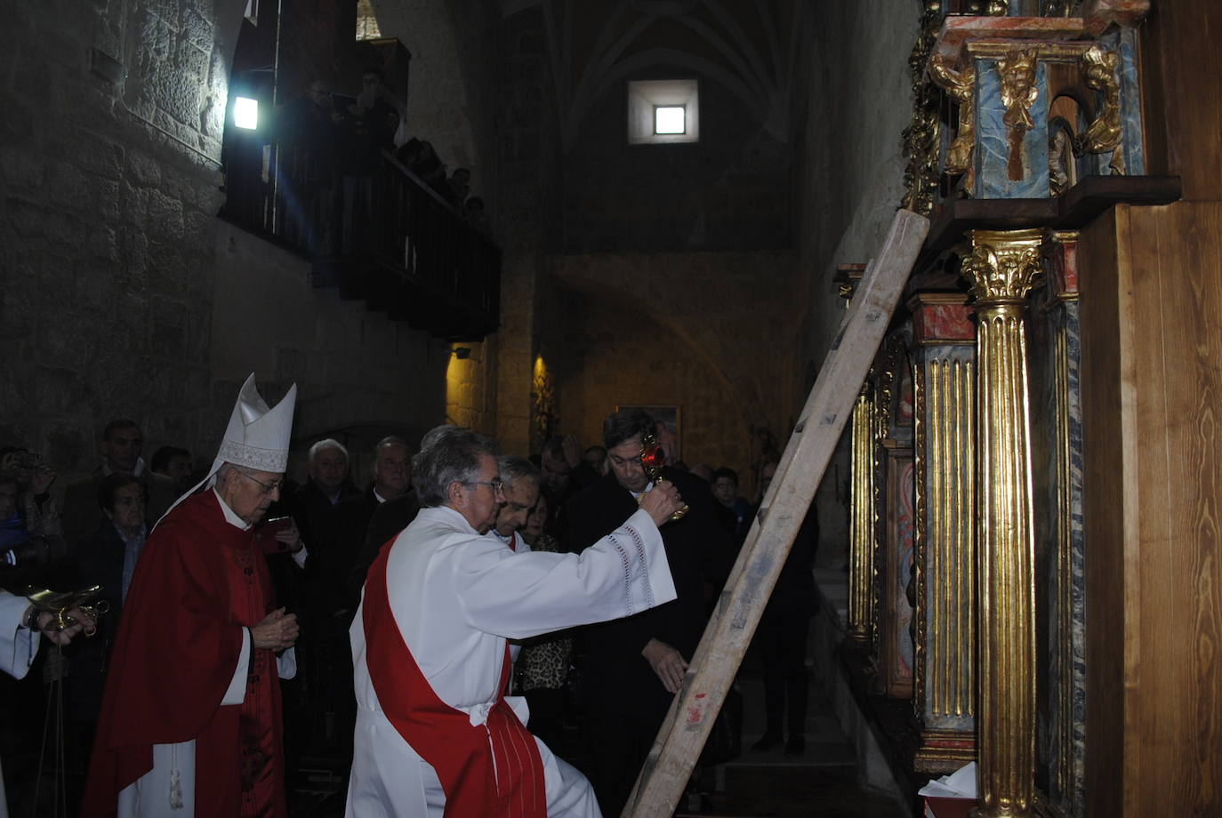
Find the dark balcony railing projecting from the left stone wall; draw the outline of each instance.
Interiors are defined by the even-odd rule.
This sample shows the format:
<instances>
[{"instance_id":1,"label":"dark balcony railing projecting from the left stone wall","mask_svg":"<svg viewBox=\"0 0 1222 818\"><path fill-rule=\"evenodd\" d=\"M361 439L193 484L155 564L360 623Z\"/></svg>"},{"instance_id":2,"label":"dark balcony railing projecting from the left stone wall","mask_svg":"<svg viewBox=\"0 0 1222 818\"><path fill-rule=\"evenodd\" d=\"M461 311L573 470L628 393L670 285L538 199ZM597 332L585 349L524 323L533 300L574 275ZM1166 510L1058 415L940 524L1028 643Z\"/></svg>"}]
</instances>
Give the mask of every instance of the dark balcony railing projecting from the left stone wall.
<instances>
[{"instance_id":1,"label":"dark balcony railing projecting from the left stone wall","mask_svg":"<svg viewBox=\"0 0 1222 818\"><path fill-rule=\"evenodd\" d=\"M222 217L313 261L316 287L452 341L495 332L501 250L386 153L226 145Z\"/></svg>"}]
</instances>

